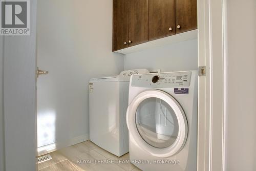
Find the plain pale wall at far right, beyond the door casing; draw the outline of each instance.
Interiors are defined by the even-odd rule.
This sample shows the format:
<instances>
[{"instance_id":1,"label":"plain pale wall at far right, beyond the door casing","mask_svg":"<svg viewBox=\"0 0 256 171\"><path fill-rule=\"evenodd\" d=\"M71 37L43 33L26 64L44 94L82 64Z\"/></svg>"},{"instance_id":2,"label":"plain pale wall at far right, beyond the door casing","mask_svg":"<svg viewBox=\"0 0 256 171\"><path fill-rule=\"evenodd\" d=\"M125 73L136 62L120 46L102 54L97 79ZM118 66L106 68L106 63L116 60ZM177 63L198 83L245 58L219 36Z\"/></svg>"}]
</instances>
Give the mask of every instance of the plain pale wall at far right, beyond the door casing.
<instances>
[{"instance_id":1,"label":"plain pale wall at far right, beyond the door casing","mask_svg":"<svg viewBox=\"0 0 256 171\"><path fill-rule=\"evenodd\" d=\"M256 1L227 0L226 170L256 169Z\"/></svg>"}]
</instances>

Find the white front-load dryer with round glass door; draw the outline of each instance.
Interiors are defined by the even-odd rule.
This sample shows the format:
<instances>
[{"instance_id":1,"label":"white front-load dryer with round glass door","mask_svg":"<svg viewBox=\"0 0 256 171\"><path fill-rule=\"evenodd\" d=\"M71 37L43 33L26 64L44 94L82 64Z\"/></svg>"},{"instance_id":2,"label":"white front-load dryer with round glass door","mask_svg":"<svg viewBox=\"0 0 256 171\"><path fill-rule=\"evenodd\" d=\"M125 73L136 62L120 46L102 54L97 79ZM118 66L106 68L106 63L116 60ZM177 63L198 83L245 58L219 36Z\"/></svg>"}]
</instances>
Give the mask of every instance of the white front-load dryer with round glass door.
<instances>
[{"instance_id":1,"label":"white front-load dryer with round glass door","mask_svg":"<svg viewBox=\"0 0 256 171\"><path fill-rule=\"evenodd\" d=\"M197 71L133 75L130 160L144 171L197 170Z\"/></svg>"}]
</instances>

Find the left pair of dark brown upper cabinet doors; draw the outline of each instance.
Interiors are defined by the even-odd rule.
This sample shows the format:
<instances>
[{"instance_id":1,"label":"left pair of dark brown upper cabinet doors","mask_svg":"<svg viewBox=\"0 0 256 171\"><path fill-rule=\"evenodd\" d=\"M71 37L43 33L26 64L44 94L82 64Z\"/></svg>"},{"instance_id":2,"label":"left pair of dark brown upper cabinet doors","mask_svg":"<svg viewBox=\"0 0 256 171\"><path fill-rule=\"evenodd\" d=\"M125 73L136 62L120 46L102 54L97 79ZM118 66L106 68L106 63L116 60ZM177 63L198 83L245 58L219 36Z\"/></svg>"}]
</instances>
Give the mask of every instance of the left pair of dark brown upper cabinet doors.
<instances>
[{"instance_id":1,"label":"left pair of dark brown upper cabinet doors","mask_svg":"<svg viewBox=\"0 0 256 171\"><path fill-rule=\"evenodd\" d=\"M113 51L148 41L148 0L113 0Z\"/></svg>"}]
</instances>

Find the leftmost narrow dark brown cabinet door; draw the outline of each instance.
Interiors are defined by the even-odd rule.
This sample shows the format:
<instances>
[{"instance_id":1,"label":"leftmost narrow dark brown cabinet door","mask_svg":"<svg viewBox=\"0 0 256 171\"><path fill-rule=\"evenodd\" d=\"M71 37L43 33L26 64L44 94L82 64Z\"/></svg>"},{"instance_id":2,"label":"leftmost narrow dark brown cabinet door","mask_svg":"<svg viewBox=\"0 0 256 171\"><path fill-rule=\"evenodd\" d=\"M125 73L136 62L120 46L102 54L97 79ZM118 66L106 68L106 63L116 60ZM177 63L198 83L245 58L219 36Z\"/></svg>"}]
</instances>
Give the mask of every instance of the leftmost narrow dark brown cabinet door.
<instances>
[{"instance_id":1,"label":"leftmost narrow dark brown cabinet door","mask_svg":"<svg viewBox=\"0 0 256 171\"><path fill-rule=\"evenodd\" d=\"M129 1L113 1L113 51L129 47Z\"/></svg>"}]
</instances>

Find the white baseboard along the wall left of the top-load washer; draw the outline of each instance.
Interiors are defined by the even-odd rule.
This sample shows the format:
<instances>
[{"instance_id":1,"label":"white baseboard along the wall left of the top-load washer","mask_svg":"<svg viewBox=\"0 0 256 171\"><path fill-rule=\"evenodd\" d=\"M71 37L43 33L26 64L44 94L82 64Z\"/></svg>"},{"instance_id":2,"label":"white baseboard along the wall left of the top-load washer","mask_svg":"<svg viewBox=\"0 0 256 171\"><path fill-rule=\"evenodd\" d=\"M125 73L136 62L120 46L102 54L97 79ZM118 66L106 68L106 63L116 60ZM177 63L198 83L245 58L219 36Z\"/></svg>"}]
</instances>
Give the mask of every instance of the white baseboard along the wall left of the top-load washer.
<instances>
[{"instance_id":1,"label":"white baseboard along the wall left of the top-load washer","mask_svg":"<svg viewBox=\"0 0 256 171\"><path fill-rule=\"evenodd\" d=\"M65 147L68 147L71 145L75 145L75 144L78 144L78 143L81 143L81 142L84 142L87 140L89 140L89 134L84 134L84 135L69 139L67 141L56 142L53 144L41 146L41 147L37 148L37 155L38 156L45 155L45 154L54 152L58 149L65 148Z\"/></svg>"}]
</instances>

